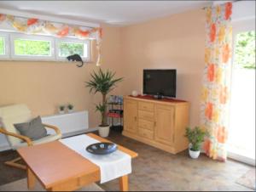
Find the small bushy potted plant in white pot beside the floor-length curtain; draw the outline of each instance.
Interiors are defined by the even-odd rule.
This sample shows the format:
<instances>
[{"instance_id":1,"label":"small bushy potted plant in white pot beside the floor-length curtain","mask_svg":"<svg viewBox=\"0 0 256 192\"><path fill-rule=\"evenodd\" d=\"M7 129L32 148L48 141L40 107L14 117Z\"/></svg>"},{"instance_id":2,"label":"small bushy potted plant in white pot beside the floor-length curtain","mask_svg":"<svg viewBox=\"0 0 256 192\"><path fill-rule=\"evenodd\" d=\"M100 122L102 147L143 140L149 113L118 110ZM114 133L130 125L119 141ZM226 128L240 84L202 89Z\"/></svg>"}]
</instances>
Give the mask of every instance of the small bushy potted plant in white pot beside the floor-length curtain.
<instances>
[{"instance_id":1,"label":"small bushy potted plant in white pot beside the floor-length curtain","mask_svg":"<svg viewBox=\"0 0 256 192\"><path fill-rule=\"evenodd\" d=\"M189 139L189 155L193 159L197 159L200 155L201 143L207 135L200 127L194 129L187 127L185 137Z\"/></svg>"}]
</instances>

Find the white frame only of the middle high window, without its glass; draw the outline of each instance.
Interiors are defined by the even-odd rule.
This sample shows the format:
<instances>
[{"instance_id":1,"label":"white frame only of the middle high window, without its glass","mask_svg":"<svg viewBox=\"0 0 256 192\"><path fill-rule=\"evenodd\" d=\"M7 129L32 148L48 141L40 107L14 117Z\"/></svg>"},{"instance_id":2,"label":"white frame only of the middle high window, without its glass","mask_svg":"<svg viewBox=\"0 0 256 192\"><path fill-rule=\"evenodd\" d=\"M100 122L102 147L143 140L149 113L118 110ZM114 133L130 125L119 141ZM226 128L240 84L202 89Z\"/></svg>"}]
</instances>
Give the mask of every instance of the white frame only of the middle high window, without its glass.
<instances>
[{"instance_id":1,"label":"white frame only of the middle high window, without its glass","mask_svg":"<svg viewBox=\"0 0 256 192\"><path fill-rule=\"evenodd\" d=\"M20 33L12 33L10 37L10 59L15 60L55 60L55 39L53 37L41 36L41 35L27 35ZM47 41L50 42L50 56L47 55L17 55L15 54L15 40L26 39L32 41Z\"/></svg>"}]
</instances>

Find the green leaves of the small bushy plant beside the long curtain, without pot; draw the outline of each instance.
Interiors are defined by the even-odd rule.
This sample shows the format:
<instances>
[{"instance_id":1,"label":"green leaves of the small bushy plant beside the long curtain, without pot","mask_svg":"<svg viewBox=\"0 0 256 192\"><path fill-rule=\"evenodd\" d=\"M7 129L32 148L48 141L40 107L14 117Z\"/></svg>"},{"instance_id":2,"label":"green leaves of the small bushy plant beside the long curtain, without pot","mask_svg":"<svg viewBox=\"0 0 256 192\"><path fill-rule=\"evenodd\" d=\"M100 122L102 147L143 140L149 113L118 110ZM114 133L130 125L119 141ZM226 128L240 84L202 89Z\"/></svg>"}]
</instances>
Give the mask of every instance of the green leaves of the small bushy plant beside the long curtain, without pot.
<instances>
[{"instance_id":1,"label":"green leaves of the small bushy plant beside the long curtain, without pot","mask_svg":"<svg viewBox=\"0 0 256 192\"><path fill-rule=\"evenodd\" d=\"M195 127L194 129L187 127L185 137L189 139L189 143L192 144L190 150L199 151L201 148L201 143L204 141L207 132L204 132L200 127Z\"/></svg>"}]
</instances>

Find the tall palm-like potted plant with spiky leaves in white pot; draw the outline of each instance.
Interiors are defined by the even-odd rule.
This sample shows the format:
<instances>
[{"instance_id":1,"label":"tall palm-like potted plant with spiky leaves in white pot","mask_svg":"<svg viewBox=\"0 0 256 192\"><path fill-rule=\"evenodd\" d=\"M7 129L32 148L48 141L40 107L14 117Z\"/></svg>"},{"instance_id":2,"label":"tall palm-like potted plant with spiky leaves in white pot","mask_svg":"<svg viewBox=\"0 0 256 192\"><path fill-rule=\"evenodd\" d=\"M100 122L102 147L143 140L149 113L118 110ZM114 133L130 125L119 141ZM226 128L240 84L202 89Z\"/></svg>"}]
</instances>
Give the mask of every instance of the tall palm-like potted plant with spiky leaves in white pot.
<instances>
[{"instance_id":1,"label":"tall palm-like potted plant with spiky leaves in white pot","mask_svg":"<svg viewBox=\"0 0 256 192\"><path fill-rule=\"evenodd\" d=\"M101 113L102 122L99 126L99 133L102 138L108 137L108 112L107 112L107 94L116 87L116 84L122 81L123 78L114 78L115 72L112 71L99 71L90 74L91 80L86 83L86 87L90 88L90 93L102 93L102 102L96 104L96 111Z\"/></svg>"}]
</instances>

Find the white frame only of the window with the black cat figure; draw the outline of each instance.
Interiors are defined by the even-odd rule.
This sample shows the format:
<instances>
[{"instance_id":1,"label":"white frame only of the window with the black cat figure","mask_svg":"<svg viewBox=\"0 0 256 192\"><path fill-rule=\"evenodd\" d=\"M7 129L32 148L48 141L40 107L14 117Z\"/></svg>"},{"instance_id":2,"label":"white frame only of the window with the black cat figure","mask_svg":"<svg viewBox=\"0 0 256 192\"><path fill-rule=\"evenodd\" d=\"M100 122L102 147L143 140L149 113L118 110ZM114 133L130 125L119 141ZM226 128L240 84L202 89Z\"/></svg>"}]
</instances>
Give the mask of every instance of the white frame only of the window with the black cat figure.
<instances>
[{"instance_id":1,"label":"white frame only of the window with the black cat figure","mask_svg":"<svg viewBox=\"0 0 256 192\"><path fill-rule=\"evenodd\" d=\"M87 44L87 57L82 57L84 62L90 62L90 39L77 39L77 38L72 38L72 37L66 37L66 38L55 38L55 59L60 60L60 61L65 61L67 60L67 57L61 57L59 56L59 51L60 51L60 44L61 42L66 42L66 43L82 43L82 44Z\"/></svg>"}]
</instances>

